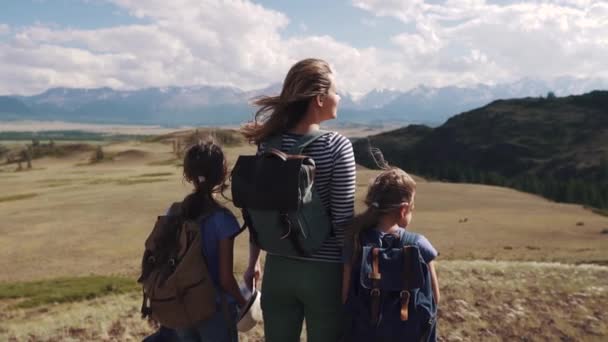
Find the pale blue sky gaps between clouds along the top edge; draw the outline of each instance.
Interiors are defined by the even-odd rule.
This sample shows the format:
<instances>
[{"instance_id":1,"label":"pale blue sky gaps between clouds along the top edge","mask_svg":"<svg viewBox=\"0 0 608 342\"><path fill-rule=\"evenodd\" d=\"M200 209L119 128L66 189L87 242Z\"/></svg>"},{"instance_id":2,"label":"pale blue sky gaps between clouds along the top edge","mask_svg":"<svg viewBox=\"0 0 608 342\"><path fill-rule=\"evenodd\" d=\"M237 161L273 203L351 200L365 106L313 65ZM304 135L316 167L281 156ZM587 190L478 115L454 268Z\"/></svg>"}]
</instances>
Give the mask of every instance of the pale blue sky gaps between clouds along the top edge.
<instances>
[{"instance_id":1,"label":"pale blue sky gaps between clouds along the top edge","mask_svg":"<svg viewBox=\"0 0 608 342\"><path fill-rule=\"evenodd\" d=\"M42 24L56 27L98 29L145 23L129 11L101 0L2 0L0 23L14 27ZM346 0L264 0L269 9L289 16L282 31L286 37L331 35L355 47L390 45L389 37L412 29L412 24L394 18L378 20Z\"/></svg>"}]
</instances>

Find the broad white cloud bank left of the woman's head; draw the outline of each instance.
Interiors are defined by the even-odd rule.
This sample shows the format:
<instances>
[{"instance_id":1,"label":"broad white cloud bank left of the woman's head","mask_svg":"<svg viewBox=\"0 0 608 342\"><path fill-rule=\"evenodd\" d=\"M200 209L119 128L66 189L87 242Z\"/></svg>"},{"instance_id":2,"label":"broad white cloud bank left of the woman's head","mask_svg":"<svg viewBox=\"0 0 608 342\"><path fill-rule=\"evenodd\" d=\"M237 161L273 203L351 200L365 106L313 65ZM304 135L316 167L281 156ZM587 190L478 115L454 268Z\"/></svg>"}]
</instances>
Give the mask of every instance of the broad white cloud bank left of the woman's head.
<instances>
[{"instance_id":1,"label":"broad white cloud bank left of the woman's head","mask_svg":"<svg viewBox=\"0 0 608 342\"><path fill-rule=\"evenodd\" d=\"M150 24L96 30L27 27L0 50L0 93L52 86L120 88L276 82L291 62L285 15L247 1L117 0ZM23 84L8 82L23 74Z\"/></svg>"}]
</instances>

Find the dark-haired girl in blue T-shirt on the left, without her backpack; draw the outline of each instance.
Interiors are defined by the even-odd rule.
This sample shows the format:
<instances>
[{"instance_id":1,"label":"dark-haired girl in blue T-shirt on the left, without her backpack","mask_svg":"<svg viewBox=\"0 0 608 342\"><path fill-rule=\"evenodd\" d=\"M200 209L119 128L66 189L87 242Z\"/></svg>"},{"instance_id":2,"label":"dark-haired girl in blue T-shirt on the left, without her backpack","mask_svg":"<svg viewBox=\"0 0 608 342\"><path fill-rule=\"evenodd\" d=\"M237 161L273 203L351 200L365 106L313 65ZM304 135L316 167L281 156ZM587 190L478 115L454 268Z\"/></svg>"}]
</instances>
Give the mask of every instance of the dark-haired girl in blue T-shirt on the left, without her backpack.
<instances>
[{"instance_id":1,"label":"dark-haired girl in blue T-shirt on the left, without her backpack","mask_svg":"<svg viewBox=\"0 0 608 342\"><path fill-rule=\"evenodd\" d=\"M246 303L233 270L234 238L240 232L234 215L216 200L227 188L227 167L224 152L213 142L199 142L190 146L184 156L184 179L194 189L182 202L182 214L196 220L211 213L200 226L201 253L207 259L209 273L215 287L228 301L230 320L227 322L218 298L216 314L197 326L177 331L180 341L236 342L237 309ZM219 297L219 296L218 296Z\"/></svg>"}]
</instances>

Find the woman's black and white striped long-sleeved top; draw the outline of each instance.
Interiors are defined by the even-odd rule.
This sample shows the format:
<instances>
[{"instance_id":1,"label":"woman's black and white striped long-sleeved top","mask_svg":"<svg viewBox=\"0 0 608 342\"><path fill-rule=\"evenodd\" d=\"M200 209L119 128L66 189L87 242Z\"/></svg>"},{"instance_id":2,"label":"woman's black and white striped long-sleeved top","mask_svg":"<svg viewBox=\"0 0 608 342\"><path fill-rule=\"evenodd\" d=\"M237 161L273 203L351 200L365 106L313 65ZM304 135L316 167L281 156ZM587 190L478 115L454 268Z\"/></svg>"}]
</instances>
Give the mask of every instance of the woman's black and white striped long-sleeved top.
<instances>
[{"instance_id":1,"label":"woman's black and white striped long-sleeved top","mask_svg":"<svg viewBox=\"0 0 608 342\"><path fill-rule=\"evenodd\" d=\"M294 133L283 133L281 150L289 151L301 138ZM264 143L260 149L265 149ZM315 186L325 208L328 209L335 236L310 257L297 259L341 262L344 228L353 218L355 207L355 156L353 145L343 135L328 132L304 148L303 155L316 164Z\"/></svg>"}]
</instances>

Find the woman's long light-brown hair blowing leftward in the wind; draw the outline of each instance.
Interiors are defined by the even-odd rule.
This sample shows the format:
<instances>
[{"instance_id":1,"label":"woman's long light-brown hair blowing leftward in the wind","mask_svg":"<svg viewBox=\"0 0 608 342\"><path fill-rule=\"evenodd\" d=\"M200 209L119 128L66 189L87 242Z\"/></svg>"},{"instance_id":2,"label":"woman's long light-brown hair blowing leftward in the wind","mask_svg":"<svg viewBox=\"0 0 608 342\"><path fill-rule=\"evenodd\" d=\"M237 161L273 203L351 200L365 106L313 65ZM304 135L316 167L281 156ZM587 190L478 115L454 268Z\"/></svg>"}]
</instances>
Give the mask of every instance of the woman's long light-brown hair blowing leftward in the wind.
<instances>
[{"instance_id":1,"label":"woman's long light-brown hair blowing leftward in the wind","mask_svg":"<svg viewBox=\"0 0 608 342\"><path fill-rule=\"evenodd\" d=\"M260 108L254 120L242 127L245 138L259 144L271 135L294 128L304 118L311 100L328 94L331 74L329 64L321 59L308 58L294 64L279 96L261 96L253 101Z\"/></svg>"}]
</instances>

